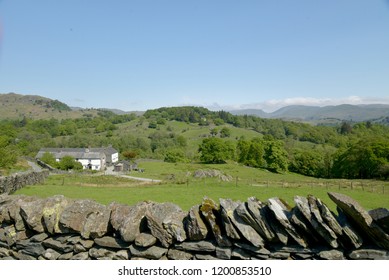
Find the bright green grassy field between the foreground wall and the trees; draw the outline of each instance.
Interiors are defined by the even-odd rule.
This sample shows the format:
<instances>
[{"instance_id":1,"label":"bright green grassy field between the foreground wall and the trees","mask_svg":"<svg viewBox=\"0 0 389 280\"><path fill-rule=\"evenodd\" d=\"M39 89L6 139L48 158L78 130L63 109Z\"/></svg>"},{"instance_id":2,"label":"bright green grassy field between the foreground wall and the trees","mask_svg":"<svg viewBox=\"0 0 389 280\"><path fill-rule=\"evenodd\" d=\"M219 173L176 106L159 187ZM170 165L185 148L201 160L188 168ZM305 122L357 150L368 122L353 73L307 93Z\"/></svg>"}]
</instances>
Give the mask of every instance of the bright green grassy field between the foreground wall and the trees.
<instances>
[{"instance_id":1,"label":"bright green grassy field between the foreground wall and the trees","mask_svg":"<svg viewBox=\"0 0 389 280\"><path fill-rule=\"evenodd\" d=\"M43 185L25 187L16 194L39 197L62 194L76 199L93 199L103 204L113 201L128 205L139 201L172 202L184 210L200 204L204 196L215 201L219 198L245 201L250 196L266 201L271 197L280 197L293 206L295 195L312 194L335 210L335 204L327 195L327 192L333 191L354 198L365 209L389 208L387 182L319 180L297 174L274 174L232 163L204 165L142 162L140 167L145 168L146 172L131 175L164 181L150 184L114 176L53 175ZM193 177L195 170L211 168L232 176L232 181Z\"/></svg>"}]
</instances>

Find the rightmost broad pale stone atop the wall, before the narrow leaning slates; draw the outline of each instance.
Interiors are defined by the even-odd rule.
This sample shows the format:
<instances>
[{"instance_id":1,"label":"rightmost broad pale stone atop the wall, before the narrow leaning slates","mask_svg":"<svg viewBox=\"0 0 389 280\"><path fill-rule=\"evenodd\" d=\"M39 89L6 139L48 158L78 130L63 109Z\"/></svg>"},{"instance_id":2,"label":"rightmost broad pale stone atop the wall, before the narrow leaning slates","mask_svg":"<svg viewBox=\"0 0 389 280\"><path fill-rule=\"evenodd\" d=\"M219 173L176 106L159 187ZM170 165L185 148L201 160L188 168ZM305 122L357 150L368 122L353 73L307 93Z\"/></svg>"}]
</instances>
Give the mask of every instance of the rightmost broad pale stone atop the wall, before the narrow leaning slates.
<instances>
[{"instance_id":1,"label":"rightmost broad pale stone atop the wall, before the narrow leaning slates","mask_svg":"<svg viewBox=\"0 0 389 280\"><path fill-rule=\"evenodd\" d=\"M186 239L183 223L186 213L179 206L153 203L147 210L147 226L163 247L168 248L173 241L182 242Z\"/></svg>"}]
</instances>

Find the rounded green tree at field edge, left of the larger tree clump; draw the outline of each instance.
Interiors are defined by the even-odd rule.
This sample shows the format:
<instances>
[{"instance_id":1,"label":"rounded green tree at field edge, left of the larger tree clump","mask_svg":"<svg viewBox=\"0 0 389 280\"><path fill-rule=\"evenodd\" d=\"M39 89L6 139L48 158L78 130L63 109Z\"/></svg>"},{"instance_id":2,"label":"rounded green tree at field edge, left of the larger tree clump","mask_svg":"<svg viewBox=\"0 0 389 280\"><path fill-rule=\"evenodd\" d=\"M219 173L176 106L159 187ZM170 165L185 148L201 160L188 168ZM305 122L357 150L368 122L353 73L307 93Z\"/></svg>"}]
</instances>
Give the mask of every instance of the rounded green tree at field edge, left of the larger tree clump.
<instances>
[{"instance_id":1,"label":"rounded green tree at field edge, left of the larger tree clump","mask_svg":"<svg viewBox=\"0 0 389 280\"><path fill-rule=\"evenodd\" d=\"M200 159L204 162L225 163L234 157L235 148L230 141L212 137L202 141L199 152Z\"/></svg>"}]
</instances>

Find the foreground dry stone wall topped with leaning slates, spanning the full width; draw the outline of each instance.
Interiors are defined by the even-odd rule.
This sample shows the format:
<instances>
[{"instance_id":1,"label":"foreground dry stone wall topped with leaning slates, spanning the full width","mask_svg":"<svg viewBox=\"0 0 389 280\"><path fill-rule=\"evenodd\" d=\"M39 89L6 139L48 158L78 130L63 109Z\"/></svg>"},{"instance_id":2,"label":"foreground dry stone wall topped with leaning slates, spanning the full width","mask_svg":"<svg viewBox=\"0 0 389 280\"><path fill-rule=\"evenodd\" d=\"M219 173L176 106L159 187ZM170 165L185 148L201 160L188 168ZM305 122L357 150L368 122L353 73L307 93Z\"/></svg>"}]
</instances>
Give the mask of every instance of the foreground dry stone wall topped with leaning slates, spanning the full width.
<instances>
[{"instance_id":1,"label":"foreground dry stone wall topped with leaning slates, spanning the full width","mask_svg":"<svg viewBox=\"0 0 389 280\"><path fill-rule=\"evenodd\" d=\"M204 198L182 211L0 195L0 259L389 259L389 211L329 196L337 215L313 196L296 196L293 207L278 198Z\"/></svg>"}]
</instances>

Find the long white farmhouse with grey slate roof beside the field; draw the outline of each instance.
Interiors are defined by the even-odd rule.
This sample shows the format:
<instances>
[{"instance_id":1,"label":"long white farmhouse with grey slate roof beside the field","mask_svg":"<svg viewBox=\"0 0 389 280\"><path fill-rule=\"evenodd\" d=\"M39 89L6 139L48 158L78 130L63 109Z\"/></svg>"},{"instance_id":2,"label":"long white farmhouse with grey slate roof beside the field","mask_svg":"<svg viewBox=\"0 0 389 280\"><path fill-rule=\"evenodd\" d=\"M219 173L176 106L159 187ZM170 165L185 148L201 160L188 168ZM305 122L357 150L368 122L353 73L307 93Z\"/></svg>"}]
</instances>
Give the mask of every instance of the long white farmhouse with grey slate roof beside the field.
<instances>
[{"instance_id":1,"label":"long white farmhouse with grey slate roof beside the field","mask_svg":"<svg viewBox=\"0 0 389 280\"><path fill-rule=\"evenodd\" d=\"M41 159L45 153L51 153L56 161L65 156L71 156L80 162L84 169L104 170L107 165L112 165L119 160L119 153L114 148L42 148L36 155Z\"/></svg>"}]
</instances>

